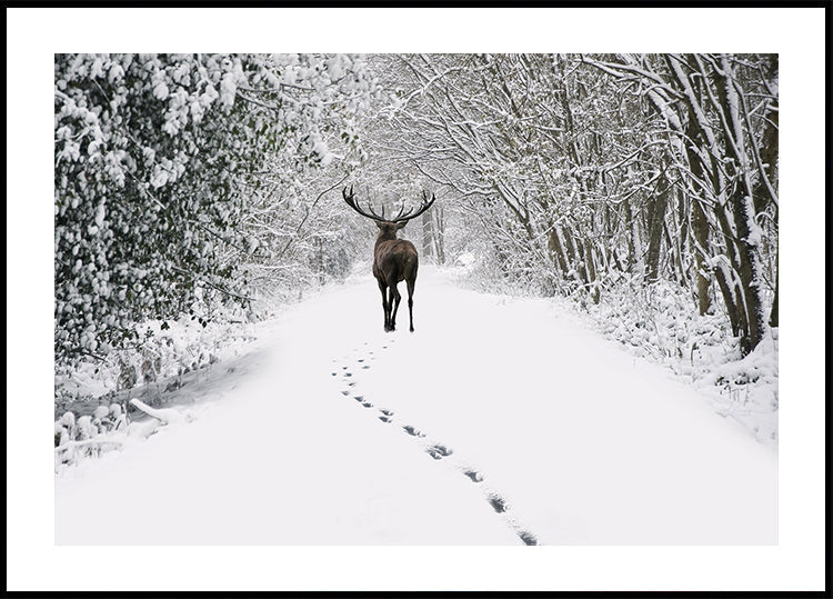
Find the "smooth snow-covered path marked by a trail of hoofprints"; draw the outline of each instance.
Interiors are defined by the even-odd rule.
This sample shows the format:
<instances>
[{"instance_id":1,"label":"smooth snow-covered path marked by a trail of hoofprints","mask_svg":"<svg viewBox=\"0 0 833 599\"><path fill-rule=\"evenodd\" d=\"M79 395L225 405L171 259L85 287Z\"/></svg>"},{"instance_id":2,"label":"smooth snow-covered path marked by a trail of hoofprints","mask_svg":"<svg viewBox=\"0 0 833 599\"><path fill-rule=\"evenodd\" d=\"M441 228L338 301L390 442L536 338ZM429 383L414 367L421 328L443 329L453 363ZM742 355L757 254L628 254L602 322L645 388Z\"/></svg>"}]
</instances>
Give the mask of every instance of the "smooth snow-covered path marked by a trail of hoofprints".
<instances>
[{"instance_id":1,"label":"smooth snow-covered path marked by a trail of hoofprints","mask_svg":"<svg viewBox=\"0 0 833 599\"><path fill-rule=\"evenodd\" d=\"M776 451L666 370L425 267L401 318L369 276L297 306L221 401L59 473L56 541L777 542Z\"/></svg>"}]
</instances>

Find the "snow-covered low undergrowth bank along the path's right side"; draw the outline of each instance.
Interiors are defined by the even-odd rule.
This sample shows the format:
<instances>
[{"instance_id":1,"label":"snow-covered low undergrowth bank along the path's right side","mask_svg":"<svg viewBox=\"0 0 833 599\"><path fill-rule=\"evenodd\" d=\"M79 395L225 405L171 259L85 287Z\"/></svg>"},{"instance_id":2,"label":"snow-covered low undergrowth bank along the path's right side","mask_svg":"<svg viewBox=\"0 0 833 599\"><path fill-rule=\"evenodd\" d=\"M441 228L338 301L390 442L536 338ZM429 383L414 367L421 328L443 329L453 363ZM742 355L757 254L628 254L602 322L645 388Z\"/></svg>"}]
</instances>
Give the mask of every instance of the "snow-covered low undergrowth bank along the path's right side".
<instances>
[{"instance_id":1,"label":"snow-covered low undergrowth bank along the path's right side","mask_svg":"<svg viewBox=\"0 0 833 599\"><path fill-rule=\"evenodd\" d=\"M721 268L723 261L712 262ZM729 271L726 271L729 272ZM715 411L736 420L773 448L779 443L777 329L746 358L724 313L692 313L691 297L678 284L632 281L609 290L598 306L578 311L553 299L582 322L639 358L663 366L706 396Z\"/></svg>"}]
</instances>

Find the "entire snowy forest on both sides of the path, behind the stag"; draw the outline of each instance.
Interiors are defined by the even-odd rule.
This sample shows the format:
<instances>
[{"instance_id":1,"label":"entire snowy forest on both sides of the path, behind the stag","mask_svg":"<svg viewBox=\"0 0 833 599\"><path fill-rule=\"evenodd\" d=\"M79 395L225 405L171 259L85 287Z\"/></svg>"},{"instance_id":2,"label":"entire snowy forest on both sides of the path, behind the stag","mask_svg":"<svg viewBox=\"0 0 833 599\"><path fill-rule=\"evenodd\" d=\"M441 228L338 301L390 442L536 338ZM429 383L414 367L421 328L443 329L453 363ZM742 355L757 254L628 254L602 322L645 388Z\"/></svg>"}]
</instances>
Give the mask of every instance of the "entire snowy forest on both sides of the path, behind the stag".
<instances>
[{"instance_id":1,"label":"entire snowy forest on both sides of the path, behind the stag","mask_svg":"<svg viewBox=\"0 0 833 599\"><path fill-rule=\"evenodd\" d=\"M659 359L706 322L741 360L777 330L777 157L776 54L56 54L56 399L343 281L372 242L348 186L434 193L404 233L481 289Z\"/></svg>"}]
</instances>

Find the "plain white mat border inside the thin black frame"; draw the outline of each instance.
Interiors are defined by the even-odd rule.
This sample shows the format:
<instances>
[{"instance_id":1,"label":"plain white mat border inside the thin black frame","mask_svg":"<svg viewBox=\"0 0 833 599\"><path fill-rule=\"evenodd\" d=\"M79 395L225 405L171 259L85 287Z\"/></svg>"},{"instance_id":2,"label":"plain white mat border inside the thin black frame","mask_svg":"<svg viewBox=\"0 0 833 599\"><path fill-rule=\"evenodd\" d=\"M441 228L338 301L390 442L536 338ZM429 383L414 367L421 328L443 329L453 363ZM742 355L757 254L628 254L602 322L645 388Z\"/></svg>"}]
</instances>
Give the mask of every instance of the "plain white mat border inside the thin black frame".
<instances>
[{"instance_id":1,"label":"plain white mat border inside the thin black frame","mask_svg":"<svg viewBox=\"0 0 833 599\"><path fill-rule=\"evenodd\" d=\"M824 17L824 9L7 9L8 590L823 589ZM53 53L102 50L779 52L787 202L780 545L56 547ZM102 506L110 510L118 507Z\"/></svg>"}]
</instances>

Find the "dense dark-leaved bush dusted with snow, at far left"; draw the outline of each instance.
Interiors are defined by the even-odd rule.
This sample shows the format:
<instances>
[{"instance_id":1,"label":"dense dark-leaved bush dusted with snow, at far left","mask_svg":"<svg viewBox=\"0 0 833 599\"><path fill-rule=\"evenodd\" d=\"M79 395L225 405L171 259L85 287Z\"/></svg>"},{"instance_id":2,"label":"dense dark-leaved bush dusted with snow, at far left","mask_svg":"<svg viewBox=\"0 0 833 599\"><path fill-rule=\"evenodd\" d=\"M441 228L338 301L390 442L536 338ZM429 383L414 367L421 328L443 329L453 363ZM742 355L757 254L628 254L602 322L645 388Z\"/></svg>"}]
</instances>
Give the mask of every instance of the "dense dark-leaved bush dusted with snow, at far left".
<instances>
[{"instance_id":1,"label":"dense dark-leaved bush dusted with snow, at far left","mask_svg":"<svg viewBox=\"0 0 833 599\"><path fill-rule=\"evenodd\" d=\"M171 317L200 282L239 287L215 248L233 242L240 211L230 167L257 164L228 144L243 80L240 61L56 56L59 359L123 345L132 322Z\"/></svg>"}]
</instances>

